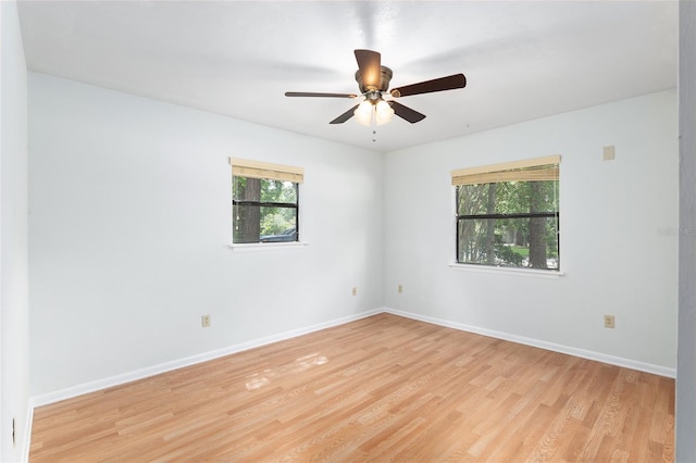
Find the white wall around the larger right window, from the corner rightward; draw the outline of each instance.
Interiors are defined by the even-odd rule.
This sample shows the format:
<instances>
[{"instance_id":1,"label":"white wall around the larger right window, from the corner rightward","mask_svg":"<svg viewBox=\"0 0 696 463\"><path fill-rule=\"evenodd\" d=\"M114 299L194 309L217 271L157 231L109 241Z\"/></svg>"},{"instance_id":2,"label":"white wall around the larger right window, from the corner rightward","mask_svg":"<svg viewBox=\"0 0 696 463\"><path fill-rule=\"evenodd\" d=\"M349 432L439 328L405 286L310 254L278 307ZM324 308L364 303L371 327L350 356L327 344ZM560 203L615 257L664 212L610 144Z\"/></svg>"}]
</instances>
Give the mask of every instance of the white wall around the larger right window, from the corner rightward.
<instances>
[{"instance_id":1,"label":"white wall around the larger right window, from the corner rightward","mask_svg":"<svg viewBox=\"0 0 696 463\"><path fill-rule=\"evenodd\" d=\"M676 114L668 91L388 153L385 305L673 375ZM602 161L608 145L614 161ZM450 267L450 171L551 154L562 157L564 276ZM604 314L616 315L616 329L604 328Z\"/></svg>"}]
</instances>

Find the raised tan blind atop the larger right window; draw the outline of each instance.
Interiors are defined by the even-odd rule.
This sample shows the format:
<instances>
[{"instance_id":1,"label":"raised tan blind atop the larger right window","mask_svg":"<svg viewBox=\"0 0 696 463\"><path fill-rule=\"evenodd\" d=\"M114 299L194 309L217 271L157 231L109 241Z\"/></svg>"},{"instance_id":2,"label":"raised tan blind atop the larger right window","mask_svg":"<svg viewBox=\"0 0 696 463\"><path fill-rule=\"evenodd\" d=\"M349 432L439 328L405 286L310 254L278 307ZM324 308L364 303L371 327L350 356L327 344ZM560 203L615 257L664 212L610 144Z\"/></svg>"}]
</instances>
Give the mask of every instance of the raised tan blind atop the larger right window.
<instances>
[{"instance_id":1,"label":"raised tan blind atop the larger right window","mask_svg":"<svg viewBox=\"0 0 696 463\"><path fill-rule=\"evenodd\" d=\"M451 172L452 185L558 180L560 155L504 162Z\"/></svg>"}]
</instances>

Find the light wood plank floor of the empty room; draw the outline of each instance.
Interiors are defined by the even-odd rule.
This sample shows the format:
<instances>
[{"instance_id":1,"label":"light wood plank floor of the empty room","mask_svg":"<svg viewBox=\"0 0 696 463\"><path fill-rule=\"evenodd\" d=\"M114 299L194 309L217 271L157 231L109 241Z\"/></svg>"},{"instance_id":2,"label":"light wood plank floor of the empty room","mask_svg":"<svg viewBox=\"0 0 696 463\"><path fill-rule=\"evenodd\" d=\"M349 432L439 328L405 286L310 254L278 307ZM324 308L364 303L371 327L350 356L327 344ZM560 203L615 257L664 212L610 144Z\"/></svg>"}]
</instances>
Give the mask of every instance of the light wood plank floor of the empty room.
<instances>
[{"instance_id":1,"label":"light wood plank floor of the empty room","mask_svg":"<svg viewBox=\"0 0 696 463\"><path fill-rule=\"evenodd\" d=\"M389 314L39 408L30 461L673 461L674 380Z\"/></svg>"}]
</instances>

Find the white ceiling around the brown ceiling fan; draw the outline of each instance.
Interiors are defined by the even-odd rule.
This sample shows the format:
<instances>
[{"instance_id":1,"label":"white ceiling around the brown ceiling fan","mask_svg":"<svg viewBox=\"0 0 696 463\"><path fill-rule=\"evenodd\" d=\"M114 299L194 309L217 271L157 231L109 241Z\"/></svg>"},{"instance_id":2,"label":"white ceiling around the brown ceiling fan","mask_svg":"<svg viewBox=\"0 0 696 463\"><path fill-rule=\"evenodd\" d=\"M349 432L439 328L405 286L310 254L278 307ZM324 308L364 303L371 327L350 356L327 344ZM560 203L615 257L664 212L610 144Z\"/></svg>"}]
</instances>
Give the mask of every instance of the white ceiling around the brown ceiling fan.
<instances>
[{"instance_id":1,"label":"white ceiling around the brown ceiling fan","mask_svg":"<svg viewBox=\"0 0 696 463\"><path fill-rule=\"evenodd\" d=\"M676 1L33 1L27 66L376 151L418 146L676 87ZM403 97L427 115L328 122L358 92L353 49L391 87L463 73L464 89Z\"/></svg>"}]
</instances>

